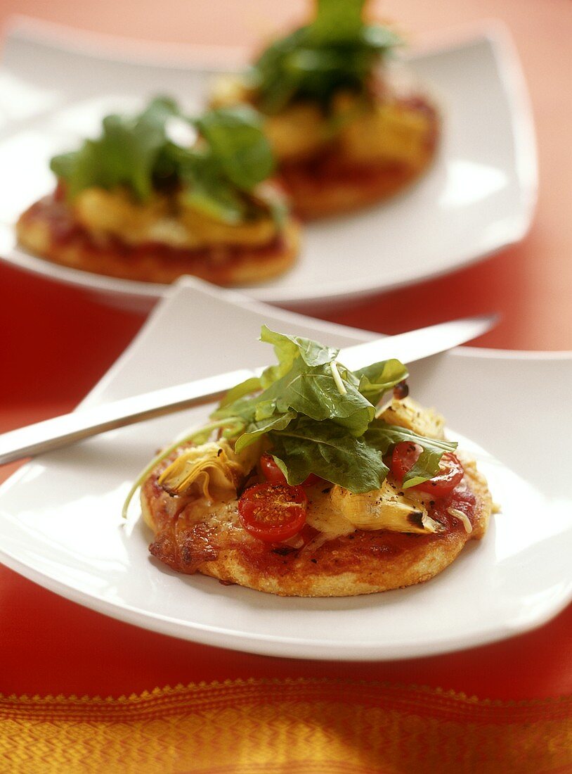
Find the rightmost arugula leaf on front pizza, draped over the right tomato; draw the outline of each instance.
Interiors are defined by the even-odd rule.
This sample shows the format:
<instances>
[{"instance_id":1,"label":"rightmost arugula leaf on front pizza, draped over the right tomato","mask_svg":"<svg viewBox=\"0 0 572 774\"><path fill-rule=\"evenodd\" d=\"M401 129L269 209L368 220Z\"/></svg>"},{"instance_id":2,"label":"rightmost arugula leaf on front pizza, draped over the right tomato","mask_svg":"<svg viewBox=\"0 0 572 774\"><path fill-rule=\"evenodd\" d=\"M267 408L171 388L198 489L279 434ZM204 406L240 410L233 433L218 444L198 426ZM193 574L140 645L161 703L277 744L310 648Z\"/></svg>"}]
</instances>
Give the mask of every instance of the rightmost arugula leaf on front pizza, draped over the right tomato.
<instances>
[{"instance_id":1,"label":"rightmost arugula leaf on front pizza, draped over the right tomato","mask_svg":"<svg viewBox=\"0 0 572 774\"><path fill-rule=\"evenodd\" d=\"M429 478L433 478L439 472L439 462L443 453L445 451L455 451L457 448L457 444L453 441L426 438L417 435L413 430L389 425L383 422L383 420L373 421L365 434L365 440L368 444L380 450L381 454L386 454L391 447L400 444L402 441L410 441L423 447L423 453L420 454L414 467L403 478L403 489L408 489L421 484L423 481L428 481Z\"/></svg>"}]
</instances>

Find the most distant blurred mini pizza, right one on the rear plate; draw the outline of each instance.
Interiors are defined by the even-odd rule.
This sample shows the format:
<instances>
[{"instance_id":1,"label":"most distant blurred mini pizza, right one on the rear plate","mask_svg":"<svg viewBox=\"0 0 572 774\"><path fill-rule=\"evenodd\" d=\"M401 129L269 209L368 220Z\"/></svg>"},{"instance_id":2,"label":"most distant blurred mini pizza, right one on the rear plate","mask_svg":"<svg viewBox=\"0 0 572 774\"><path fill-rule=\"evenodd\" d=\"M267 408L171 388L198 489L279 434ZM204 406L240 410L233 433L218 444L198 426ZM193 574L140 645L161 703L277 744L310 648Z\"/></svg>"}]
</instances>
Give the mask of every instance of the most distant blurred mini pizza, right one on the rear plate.
<instances>
[{"instance_id":1,"label":"most distant blurred mini pizza, right one on the rear plate","mask_svg":"<svg viewBox=\"0 0 572 774\"><path fill-rule=\"evenodd\" d=\"M366 23L362 2L318 0L315 19L213 87L214 105L247 102L264 128L296 211L354 210L417 180L434 158L438 112L383 61L400 38Z\"/></svg>"}]
</instances>

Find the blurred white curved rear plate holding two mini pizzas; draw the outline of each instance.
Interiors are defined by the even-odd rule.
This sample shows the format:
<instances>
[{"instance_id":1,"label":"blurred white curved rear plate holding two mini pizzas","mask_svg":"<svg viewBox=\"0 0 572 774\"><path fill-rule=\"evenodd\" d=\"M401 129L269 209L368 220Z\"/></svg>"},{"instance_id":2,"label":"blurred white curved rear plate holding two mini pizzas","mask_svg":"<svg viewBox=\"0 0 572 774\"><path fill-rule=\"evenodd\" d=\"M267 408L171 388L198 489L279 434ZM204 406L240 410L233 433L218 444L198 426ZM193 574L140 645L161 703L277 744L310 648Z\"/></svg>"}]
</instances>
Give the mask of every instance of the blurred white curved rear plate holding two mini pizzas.
<instances>
[{"instance_id":1,"label":"blurred white curved rear plate holding two mini pizzas","mask_svg":"<svg viewBox=\"0 0 572 774\"><path fill-rule=\"evenodd\" d=\"M0 71L0 169L11 181L0 191L0 255L23 269L95 289L114 303L147 309L165 286L37 259L15 245L13 224L53 187L49 157L97 132L102 115L165 92L198 109L216 70L118 60L93 43L94 53L86 53L90 46L74 47L71 33L63 44L43 26L33 29L9 32ZM495 27L408 61L443 112L434 166L393 200L308 225L295 268L245 289L250 296L291 307L339 303L450 272L526 234L536 199L536 150L506 32Z\"/></svg>"}]
</instances>

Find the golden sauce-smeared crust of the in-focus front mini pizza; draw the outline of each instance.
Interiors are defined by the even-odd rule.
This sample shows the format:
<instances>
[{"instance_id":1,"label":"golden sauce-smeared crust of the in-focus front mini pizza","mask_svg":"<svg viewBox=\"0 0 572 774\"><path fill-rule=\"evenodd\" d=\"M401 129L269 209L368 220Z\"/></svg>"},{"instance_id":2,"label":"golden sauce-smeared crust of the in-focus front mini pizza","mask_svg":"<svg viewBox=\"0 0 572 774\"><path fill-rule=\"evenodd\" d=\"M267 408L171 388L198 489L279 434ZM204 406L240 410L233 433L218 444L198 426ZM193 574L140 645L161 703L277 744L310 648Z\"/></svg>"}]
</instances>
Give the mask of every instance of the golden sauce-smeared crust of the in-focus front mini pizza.
<instances>
[{"instance_id":1,"label":"golden sauce-smeared crust of the in-focus front mini pizza","mask_svg":"<svg viewBox=\"0 0 572 774\"><path fill-rule=\"evenodd\" d=\"M468 540L485 534L492 498L475 464L464 462L459 491L475 498L470 533L451 518L444 533L431 536L356 529L324 543L313 536L298 550L268 546L240 526L237 500L207 507L198 515L196 505L187 508L181 498L167 495L157 483L167 463L142 486L141 507L155 532L151 553L179 572L199 572L281 596L372 594L429 580L455 560Z\"/></svg>"}]
</instances>

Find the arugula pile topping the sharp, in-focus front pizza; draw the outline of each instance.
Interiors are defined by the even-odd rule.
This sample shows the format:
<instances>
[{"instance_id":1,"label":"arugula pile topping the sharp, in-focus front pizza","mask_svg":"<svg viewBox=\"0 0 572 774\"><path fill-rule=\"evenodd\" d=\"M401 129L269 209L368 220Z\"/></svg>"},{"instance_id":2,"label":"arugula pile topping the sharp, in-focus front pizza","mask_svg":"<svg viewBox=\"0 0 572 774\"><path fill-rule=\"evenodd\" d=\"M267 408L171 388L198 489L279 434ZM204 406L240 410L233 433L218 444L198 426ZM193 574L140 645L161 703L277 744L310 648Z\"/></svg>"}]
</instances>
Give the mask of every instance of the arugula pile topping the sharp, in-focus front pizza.
<instances>
[{"instance_id":1,"label":"arugula pile topping the sharp, in-focus front pizza","mask_svg":"<svg viewBox=\"0 0 572 774\"><path fill-rule=\"evenodd\" d=\"M265 437L289 484L315 473L355 493L372 491L389 472L383 455L407 440L423 447L403 482L408 488L432 478L444 451L455 449L376 419L384 393L407 378L400 361L351 372L337 361L339 350L316 341L266 326L260 340L274 345L278 364L230 390L211 419L237 453Z\"/></svg>"}]
</instances>

